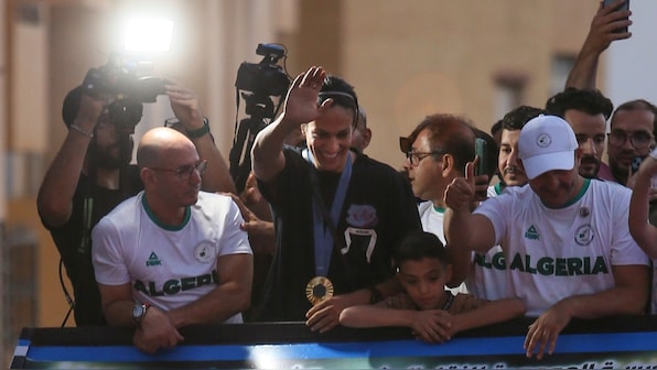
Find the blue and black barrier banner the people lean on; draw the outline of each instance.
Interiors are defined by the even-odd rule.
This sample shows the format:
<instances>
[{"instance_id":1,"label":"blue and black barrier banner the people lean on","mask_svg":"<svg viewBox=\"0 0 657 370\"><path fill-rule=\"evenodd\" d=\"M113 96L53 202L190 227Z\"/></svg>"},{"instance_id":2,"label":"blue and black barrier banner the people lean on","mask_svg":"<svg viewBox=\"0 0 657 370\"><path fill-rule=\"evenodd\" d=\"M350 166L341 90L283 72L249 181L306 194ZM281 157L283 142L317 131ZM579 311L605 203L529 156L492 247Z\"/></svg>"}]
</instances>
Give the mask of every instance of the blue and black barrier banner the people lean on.
<instances>
[{"instance_id":1,"label":"blue and black barrier banner the people lean on","mask_svg":"<svg viewBox=\"0 0 657 370\"><path fill-rule=\"evenodd\" d=\"M657 318L573 320L554 353L528 359L529 318L459 335L442 345L405 328L336 328L301 323L212 325L181 330L176 348L146 355L128 328L25 328L12 369L657 369Z\"/></svg>"}]
</instances>

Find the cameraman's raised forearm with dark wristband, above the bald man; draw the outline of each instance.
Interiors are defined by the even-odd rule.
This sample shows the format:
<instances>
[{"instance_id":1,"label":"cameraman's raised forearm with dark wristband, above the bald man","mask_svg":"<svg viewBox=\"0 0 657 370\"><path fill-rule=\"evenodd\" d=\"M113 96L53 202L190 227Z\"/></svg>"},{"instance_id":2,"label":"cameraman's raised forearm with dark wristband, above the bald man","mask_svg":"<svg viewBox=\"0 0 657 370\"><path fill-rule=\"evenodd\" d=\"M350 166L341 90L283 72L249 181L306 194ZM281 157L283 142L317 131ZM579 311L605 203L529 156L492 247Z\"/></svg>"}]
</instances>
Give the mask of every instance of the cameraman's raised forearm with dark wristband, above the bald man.
<instances>
[{"instance_id":1,"label":"cameraman's raised forearm with dark wristband, above the bald man","mask_svg":"<svg viewBox=\"0 0 657 370\"><path fill-rule=\"evenodd\" d=\"M212 193L237 194L226 161L209 135L209 127L206 127L207 121L203 117L196 94L177 85L166 85L166 95L173 113L185 127L198 156L207 160L202 188Z\"/></svg>"}]
</instances>

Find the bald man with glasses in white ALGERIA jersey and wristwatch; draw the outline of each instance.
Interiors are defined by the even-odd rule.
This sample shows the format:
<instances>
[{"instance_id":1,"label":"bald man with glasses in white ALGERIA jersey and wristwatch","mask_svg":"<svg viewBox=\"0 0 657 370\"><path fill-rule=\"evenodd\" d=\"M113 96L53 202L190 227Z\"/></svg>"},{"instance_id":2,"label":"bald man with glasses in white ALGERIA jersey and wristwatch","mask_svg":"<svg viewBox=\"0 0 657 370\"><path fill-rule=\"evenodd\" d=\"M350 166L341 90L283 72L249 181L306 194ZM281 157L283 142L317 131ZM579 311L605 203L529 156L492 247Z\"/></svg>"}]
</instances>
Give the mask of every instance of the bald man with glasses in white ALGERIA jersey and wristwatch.
<instances>
[{"instance_id":1,"label":"bald man with glasses in white ALGERIA jersey and wristwatch","mask_svg":"<svg viewBox=\"0 0 657 370\"><path fill-rule=\"evenodd\" d=\"M183 340L180 327L241 323L252 253L231 198L200 191L206 162L184 134L148 131L137 164L144 189L98 222L91 250L107 322L136 326L152 353Z\"/></svg>"}]
</instances>

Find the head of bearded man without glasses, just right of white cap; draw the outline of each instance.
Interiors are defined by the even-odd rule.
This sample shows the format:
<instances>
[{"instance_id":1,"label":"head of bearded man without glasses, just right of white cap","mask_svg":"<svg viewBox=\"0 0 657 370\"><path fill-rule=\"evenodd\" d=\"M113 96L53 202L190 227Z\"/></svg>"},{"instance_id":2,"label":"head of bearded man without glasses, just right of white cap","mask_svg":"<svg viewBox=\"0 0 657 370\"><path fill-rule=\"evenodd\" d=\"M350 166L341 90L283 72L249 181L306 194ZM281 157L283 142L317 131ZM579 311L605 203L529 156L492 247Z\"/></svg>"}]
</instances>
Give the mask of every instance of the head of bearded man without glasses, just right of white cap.
<instances>
[{"instance_id":1,"label":"head of bearded man without glasses, just right of white cap","mask_svg":"<svg viewBox=\"0 0 657 370\"><path fill-rule=\"evenodd\" d=\"M570 87L548 99L546 110L563 118L574 131L582 150L580 175L599 177L606 120L614 110L612 101L596 89Z\"/></svg>"}]
</instances>

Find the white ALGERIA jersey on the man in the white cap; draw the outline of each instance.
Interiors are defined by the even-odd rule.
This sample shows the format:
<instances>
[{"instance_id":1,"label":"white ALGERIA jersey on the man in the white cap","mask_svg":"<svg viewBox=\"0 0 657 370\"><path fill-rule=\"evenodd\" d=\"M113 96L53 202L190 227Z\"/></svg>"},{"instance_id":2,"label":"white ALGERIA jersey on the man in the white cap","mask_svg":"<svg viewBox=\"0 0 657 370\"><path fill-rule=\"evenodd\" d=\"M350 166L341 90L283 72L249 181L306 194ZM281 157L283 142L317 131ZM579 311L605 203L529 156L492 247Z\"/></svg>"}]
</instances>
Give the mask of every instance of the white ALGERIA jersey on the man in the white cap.
<instances>
[{"instance_id":1,"label":"white ALGERIA jersey on the man in the white cap","mask_svg":"<svg viewBox=\"0 0 657 370\"><path fill-rule=\"evenodd\" d=\"M505 251L509 295L538 316L572 295L614 287L613 265L648 264L629 235L631 191L586 179L559 209L546 207L529 185L507 188L474 211L495 229Z\"/></svg>"}]
</instances>

